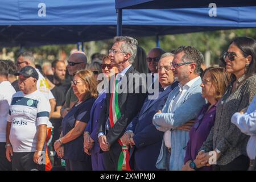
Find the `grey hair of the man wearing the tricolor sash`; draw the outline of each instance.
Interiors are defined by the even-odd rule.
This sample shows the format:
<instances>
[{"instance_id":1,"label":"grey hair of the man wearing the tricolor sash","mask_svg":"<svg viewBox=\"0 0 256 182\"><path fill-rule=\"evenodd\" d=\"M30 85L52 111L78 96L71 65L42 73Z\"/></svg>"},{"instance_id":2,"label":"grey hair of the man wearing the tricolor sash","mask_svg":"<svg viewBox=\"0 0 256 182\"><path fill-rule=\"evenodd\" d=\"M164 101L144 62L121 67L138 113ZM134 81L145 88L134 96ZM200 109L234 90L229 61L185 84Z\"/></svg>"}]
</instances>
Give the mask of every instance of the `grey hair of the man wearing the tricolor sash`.
<instances>
[{"instance_id":1,"label":"grey hair of the man wearing the tricolor sash","mask_svg":"<svg viewBox=\"0 0 256 182\"><path fill-rule=\"evenodd\" d=\"M115 42L124 42L121 46L121 51L124 53L130 53L131 57L128 60L130 64L133 64L133 61L135 59L135 56L137 54L137 45L138 41L134 38L131 38L130 36L116 36L114 38Z\"/></svg>"}]
</instances>

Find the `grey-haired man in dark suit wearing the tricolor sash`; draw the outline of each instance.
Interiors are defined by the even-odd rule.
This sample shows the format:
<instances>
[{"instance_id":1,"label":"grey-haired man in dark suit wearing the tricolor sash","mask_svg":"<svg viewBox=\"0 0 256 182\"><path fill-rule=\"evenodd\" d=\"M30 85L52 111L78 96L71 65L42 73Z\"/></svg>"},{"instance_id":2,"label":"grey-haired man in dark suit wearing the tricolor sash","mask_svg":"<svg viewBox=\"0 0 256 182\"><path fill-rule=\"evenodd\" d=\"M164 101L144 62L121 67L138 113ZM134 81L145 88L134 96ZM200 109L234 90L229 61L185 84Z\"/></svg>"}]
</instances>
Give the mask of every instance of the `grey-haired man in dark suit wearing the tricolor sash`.
<instances>
[{"instance_id":1,"label":"grey-haired man in dark suit wearing the tricolor sash","mask_svg":"<svg viewBox=\"0 0 256 182\"><path fill-rule=\"evenodd\" d=\"M131 120L141 110L146 93L142 93L139 84L139 93L135 93L135 81L129 79L129 75L138 73L133 65L137 52L137 40L131 37L116 37L109 56L112 64L117 64L119 73L112 77L115 81L109 82L109 92L106 96L106 104L99 120L98 142L104 151L104 166L106 170L122 169L118 166L119 158L122 159L122 142L119 140ZM113 84L120 86L125 92L113 94ZM130 89L132 88L132 90ZM115 90L115 89L114 89ZM124 155L126 152L123 153ZM127 168L129 169L129 168Z\"/></svg>"}]
</instances>

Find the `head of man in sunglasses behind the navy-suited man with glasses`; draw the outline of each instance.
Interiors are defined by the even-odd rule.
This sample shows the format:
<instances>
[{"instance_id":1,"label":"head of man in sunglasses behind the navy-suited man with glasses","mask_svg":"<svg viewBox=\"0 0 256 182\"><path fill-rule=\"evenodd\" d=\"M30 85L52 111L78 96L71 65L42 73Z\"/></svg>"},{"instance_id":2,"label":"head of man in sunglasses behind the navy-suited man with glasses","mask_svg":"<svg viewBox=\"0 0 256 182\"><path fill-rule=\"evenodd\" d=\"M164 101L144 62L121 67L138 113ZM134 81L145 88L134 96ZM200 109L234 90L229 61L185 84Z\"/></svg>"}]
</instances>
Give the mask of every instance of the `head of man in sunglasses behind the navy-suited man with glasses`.
<instances>
[{"instance_id":1,"label":"head of man in sunglasses behind the navy-suited man with glasses","mask_svg":"<svg viewBox=\"0 0 256 182\"><path fill-rule=\"evenodd\" d=\"M164 54L164 50L158 47L152 48L147 54L147 67L151 73L157 73L156 69L160 57Z\"/></svg>"}]
</instances>

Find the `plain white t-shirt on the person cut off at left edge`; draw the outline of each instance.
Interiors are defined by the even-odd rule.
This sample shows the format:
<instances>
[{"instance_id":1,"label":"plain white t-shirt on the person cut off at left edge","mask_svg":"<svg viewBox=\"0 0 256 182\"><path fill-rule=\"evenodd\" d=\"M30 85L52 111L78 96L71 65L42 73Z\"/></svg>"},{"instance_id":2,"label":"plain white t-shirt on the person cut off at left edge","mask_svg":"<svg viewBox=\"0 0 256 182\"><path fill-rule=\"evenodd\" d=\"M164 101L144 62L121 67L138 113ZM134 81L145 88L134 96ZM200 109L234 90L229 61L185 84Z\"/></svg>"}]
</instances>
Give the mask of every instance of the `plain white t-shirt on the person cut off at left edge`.
<instances>
[{"instance_id":1,"label":"plain white t-shirt on the person cut off at left edge","mask_svg":"<svg viewBox=\"0 0 256 182\"><path fill-rule=\"evenodd\" d=\"M9 81L0 83L0 142L6 142L7 116L15 92Z\"/></svg>"}]
</instances>

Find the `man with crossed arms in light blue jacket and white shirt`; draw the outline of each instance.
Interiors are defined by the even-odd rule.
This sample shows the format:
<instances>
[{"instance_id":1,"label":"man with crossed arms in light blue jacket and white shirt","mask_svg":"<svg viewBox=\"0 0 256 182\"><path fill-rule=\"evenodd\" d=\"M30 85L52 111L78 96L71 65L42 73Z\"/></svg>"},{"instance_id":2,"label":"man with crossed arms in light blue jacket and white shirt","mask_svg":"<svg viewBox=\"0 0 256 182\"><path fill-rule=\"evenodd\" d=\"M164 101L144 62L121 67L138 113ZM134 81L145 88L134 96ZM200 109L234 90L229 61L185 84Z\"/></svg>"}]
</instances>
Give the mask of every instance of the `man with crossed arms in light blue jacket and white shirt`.
<instances>
[{"instance_id":1,"label":"man with crossed arms in light blue jacket and white shirt","mask_svg":"<svg viewBox=\"0 0 256 182\"><path fill-rule=\"evenodd\" d=\"M156 167L171 171L181 170L184 164L188 131L178 127L195 119L205 100L201 96L200 65L201 53L191 46L180 46L175 51L171 69L179 85L170 92L162 111L153 117L153 124L164 131L162 148Z\"/></svg>"}]
</instances>

